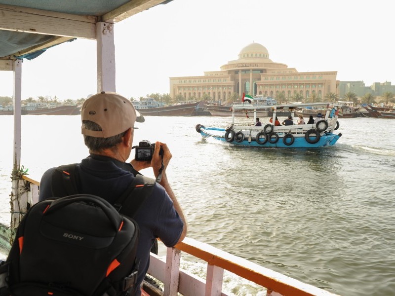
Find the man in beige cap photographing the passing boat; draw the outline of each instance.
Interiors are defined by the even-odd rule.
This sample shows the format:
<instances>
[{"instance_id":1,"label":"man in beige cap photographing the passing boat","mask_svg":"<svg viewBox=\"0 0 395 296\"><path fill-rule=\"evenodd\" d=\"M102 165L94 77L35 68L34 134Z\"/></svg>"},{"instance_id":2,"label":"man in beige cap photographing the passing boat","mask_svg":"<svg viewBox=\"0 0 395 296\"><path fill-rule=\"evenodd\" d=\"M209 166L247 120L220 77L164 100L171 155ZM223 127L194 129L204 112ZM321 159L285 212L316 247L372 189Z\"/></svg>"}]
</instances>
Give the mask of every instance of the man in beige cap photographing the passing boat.
<instances>
[{"instance_id":1,"label":"man in beige cap photographing the passing boat","mask_svg":"<svg viewBox=\"0 0 395 296\"><path fill-rule=\"evenodd\" d=\"M87 99L81 109L82 134L90 155L77 165L79 193L98 195L110 203L126 190L138 171L152 167L158 178L162 166L159 155L163 149L163 170L160 185L141 205L134 220L140 228L136 257L140 259L137 283L140 286L149 267L151 247L159 238L167 247L181 242L187 232L187 224L178 201L167 181L166 168L171 153L166 144L156 142L151 161L132 160L127 163L132 150L135 121L144 122L131 102L117 93L101 92ZM40 200L52 197L51 175L55 168L47 170L40 183ZM140 295L140 288L136 295Z\"/></svg>"}]
</instances>

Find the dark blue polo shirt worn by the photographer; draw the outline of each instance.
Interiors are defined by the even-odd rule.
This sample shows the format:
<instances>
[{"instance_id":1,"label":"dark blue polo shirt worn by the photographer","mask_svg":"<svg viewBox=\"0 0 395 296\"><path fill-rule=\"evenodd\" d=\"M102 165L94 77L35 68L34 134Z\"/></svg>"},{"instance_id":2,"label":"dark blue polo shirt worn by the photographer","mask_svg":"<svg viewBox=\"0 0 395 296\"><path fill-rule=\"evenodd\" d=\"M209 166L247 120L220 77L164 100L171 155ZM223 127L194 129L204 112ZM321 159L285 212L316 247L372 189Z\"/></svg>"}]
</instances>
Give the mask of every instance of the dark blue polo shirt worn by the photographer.
<instances>
[{"instance_id":1,"label":"dark blue polo shirt worn by the photographer","mask_svg":"<svg viewBox=\"0 0 395 296\"><path fill-rule=\"evenodd\" d=\"M129 163L116 159L90 155L77 166L81 185L80 193L98 195L113 203L134 179L136 172ZM47 170L40 182L40 198L52 197L51 175L55 168ZM156 238L167 246L173 247L181 236L183 222L173 207L173 202L164 188L155 184L152 195L141 205L133 217L140 228L137 258L140 259L138 285L144 280L149 267L151 247ZM140 295L140 290L137 293Z\"/></svg>"}]
</instances>

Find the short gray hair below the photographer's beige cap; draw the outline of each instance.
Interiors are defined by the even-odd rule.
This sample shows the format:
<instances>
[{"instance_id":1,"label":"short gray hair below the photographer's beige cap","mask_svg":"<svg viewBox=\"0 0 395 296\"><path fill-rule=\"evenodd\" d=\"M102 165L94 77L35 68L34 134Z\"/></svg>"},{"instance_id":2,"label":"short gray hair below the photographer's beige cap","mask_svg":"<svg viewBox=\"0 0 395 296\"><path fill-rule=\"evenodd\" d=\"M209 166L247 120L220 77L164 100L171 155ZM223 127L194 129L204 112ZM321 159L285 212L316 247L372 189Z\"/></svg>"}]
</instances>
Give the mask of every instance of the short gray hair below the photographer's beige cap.
<instances>
[{"instance_id":1,"label":"short gray hair below the photographer's beige cap","mask_svg":"<svg viewBox=\"0 0 395 296\"><path fill-rule=\"evenodd\" d=\"M102 128L97 123L90 121L90 120L83 120L83 126L86 129L92 131L101 131ZM122 137L125 135L126 132L120 133L116 136L112 136L109 138L96 138L91 136L83 135L83 141L85 145L92 151L103 151L104 149L112 149L117 150L117 145L122 142Z\"/></svg>"}]
</instances>

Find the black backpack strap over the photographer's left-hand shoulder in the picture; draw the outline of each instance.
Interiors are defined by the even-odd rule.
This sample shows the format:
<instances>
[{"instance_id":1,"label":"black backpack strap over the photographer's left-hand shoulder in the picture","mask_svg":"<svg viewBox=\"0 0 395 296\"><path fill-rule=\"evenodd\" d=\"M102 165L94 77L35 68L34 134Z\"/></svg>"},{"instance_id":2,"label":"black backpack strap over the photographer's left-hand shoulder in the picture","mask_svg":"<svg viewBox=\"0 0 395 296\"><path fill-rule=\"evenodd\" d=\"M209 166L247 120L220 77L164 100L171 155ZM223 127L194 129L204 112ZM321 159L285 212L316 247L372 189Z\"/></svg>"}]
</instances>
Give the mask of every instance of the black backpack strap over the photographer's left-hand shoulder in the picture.
<instances>
[{"instance_id":1,"label":"black backpack strap over the photographer's left-hand shoulder in the picture","mask_svg":"<svg viewBox=\"0 0 395 296\"><path fill-rule=\"evenodd\" d=\"M63 197L79 193L77 163L58 166L51 176L52 196Z\"/></svg>"}]
</instances>

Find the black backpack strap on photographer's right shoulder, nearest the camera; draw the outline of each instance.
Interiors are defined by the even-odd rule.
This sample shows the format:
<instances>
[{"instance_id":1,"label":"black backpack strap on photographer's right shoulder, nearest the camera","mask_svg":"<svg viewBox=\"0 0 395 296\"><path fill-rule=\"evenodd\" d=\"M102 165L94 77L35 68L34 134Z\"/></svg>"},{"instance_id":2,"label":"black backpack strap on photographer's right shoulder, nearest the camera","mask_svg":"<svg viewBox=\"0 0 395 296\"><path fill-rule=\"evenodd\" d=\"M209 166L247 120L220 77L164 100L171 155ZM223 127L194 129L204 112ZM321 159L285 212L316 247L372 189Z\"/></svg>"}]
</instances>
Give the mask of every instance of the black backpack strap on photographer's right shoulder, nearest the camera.
<instances>
[{"instance_id":1,"label":"black backpack strap on photographer's right shoulder, nearest the camera","mask_svg":"<svg viewBox=\"0 0 395 296\"><path fill-rule=\"evenodd\" d=\"M133 218L143 202L151 195L154 185L154 179L136 175L133 182L114 202L113 206L119 213Z\"/></svg>"}]
</instances>

